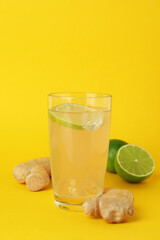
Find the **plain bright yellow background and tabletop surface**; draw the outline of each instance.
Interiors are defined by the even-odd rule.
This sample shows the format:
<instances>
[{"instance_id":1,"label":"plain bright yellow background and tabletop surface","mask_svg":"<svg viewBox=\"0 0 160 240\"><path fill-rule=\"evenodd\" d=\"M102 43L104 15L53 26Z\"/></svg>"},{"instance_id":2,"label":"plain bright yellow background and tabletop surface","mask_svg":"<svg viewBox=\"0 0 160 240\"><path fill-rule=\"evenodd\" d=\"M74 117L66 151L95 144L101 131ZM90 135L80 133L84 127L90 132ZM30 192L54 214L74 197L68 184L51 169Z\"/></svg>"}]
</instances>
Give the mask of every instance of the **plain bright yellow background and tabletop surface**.
<instances>
[{"instance_id":1,"label":"plain bright yellow background and tabletop surface","mask_svg":"<svg viewBox=\"0 0 160 240\"><path fill-rule=\"evenodd\" d=\"M0 238L159 239L160 1L0 1ZM111 225L57 208L12 177L19 162L49 155L47 94L113 95L111 138L147 149L154 175L106 185L135 196L135 216Z\"/></svg>"}]
</instances>

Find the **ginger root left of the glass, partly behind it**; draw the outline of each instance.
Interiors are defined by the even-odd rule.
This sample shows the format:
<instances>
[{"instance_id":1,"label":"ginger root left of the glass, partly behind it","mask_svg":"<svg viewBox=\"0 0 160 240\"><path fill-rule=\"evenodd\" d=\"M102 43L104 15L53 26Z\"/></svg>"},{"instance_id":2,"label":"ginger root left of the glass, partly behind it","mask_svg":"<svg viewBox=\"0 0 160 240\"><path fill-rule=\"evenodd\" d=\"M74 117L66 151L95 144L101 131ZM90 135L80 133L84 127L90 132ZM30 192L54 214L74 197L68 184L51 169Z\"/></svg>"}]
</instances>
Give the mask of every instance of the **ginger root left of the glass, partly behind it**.
<instances>
[{"instance_id":1,"label":"ginger root left of the glass, partly behind it","mask_svg":"<svg viewBox=\"0 0 160 240\"><path fill-rule=\"evenodd\" d=\"M25 183L30 191L42 190L50 183L50 160L37 158L20 163L13 169L13 176L19 183Z\"/></svg>"}]
</instances>

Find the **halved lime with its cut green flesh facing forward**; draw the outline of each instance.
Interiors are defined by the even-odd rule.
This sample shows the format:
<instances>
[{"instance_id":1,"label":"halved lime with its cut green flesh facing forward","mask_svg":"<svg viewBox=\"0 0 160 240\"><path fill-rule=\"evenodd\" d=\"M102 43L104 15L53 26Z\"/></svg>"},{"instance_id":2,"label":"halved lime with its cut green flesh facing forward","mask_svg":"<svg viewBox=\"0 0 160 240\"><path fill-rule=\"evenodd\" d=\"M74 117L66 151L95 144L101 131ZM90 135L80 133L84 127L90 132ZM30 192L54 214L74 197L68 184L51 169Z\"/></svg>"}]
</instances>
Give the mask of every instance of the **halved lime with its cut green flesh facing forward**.
<instances>
[{"instance_id":1,"label":"halved lime with its cut green flesh facing forward","mask_svg":"<svg viewBox=\"0 0 160 240\"><path fill-rule=\"evenodd\" d=\"M117 152L115 169L127 182L140 182L148 178L153 173L154 166L151 155L136 145L124 145Z\"/></svg>"}]
</instances>

